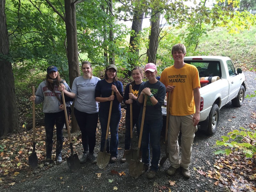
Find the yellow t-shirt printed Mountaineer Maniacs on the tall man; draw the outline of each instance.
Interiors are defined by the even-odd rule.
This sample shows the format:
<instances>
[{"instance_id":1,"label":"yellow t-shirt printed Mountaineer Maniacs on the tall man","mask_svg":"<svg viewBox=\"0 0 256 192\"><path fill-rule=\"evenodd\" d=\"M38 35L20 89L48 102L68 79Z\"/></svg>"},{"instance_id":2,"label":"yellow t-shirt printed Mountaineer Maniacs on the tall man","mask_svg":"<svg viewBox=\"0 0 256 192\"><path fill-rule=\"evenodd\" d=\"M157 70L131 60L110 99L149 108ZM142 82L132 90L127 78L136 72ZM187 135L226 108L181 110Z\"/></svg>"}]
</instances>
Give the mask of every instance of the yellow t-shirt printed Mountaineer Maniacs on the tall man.
<instances>
[{"instance_id":1,"label":"yellow t-shirt printed Mountaineer Maniacs on the tall man","mask_svg":"<svg viewBox=\"0 0 256 192\"><path fill-rule=\"evenodd\" d=\"M175 85L171 92L170 114L186 116L196 112L193 89L200 87L198 70L194 65L185 65L176 69L174 66L165 68L160 81L167 87Z\"/></svg>"}]
</instances>

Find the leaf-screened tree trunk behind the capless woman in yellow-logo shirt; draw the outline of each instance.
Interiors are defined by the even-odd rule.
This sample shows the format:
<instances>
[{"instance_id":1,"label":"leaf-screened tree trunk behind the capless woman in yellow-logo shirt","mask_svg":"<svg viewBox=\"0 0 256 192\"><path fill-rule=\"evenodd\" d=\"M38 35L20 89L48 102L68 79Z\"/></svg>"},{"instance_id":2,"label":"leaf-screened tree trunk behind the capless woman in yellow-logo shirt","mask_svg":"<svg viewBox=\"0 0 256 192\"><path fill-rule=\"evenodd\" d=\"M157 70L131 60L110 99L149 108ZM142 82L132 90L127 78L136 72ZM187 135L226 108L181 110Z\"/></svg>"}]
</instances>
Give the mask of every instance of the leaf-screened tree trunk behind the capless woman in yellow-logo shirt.
<instances>
[{"instance_id":1,"label":"leaf-screened tree trunk behind the capless woman in yellow-logo shirt","mask_svg":"<svg viewBox=\"0 0 256 192\"><path fill-rule=\"evenodd\" d=\"M142 12L134 12L133 20L132 20L132 33L134 31L134 34L131 34L130 36L130 52L135 52L136 55L139 57L139 49L136 42L136 37L141 32L142 29L142 21L143 21L143 15ZM131 68L135 67L135 60L129 60L129 63L131 64ZM132 75L132 70L128 71L128 76Z\"/></svg>"}]
</instances>

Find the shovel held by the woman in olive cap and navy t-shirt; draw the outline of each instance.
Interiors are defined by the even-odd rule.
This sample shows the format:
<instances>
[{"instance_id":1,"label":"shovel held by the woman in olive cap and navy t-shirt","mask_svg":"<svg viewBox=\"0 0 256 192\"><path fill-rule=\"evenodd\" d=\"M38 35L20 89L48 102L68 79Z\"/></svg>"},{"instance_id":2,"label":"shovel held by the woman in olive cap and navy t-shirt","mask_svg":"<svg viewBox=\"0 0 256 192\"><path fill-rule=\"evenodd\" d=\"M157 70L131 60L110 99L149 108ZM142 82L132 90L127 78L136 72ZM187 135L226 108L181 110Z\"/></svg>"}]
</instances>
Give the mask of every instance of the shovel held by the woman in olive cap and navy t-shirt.
<instances>
[{"instance_id":1,"label":"shovel held by the woman in olive cap and navy t-shirt","mask_svg":"<svg viewBox=\"0 0 256 192\"><path fill-rule=\"evenodd\" d=\"M111 95L114 95L114 91L112 90ZM111 117L111 111L112 111L112 105L113 105L113 100L110 101L110 107L109 107L109 113L108 113L108 125L107 125L107 132L106 132L106 138L105 138L105 143L104 143L104 149L103 152L98 153L97 157L97 165L99 166L100 169L104 169L108 163L111 154L107 153L107 143L108 143L108 131L109 131L109 125L110 125L110 117Z\"/></svg>"}]
</instances>

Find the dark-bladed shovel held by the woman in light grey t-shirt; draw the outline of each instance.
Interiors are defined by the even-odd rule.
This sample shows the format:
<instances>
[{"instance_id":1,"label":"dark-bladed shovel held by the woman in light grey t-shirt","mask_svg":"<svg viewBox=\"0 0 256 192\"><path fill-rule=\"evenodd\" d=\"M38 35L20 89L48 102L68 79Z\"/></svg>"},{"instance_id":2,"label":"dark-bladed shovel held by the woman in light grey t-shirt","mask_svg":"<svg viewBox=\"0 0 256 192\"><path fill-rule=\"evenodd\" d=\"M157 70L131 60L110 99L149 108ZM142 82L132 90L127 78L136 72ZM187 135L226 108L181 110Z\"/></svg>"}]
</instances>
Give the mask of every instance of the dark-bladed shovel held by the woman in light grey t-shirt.
<instances>
[{"instance_id":1,"label":"dark-bladed shovel held by the woman in light grey t-shirt","mask_svg":"<svg viewBox=\"0 0 256 192\"><path fill-rule=\"evenodd\" d=\"M69 129L69 121L68 121L68 113L65 103L65 97L64 92L61 91L62 101L64 105L64 112L65 112L65 118L66 118L66 124L67 124L67 130L68 130L68 139L69 139L69 145L71 149L71 155L67 158L68 167L71 172L76 172L80 168L80 161L77 154L73 154L73 143L71 139L70 129Z\"/></svg>"}]
</instances>

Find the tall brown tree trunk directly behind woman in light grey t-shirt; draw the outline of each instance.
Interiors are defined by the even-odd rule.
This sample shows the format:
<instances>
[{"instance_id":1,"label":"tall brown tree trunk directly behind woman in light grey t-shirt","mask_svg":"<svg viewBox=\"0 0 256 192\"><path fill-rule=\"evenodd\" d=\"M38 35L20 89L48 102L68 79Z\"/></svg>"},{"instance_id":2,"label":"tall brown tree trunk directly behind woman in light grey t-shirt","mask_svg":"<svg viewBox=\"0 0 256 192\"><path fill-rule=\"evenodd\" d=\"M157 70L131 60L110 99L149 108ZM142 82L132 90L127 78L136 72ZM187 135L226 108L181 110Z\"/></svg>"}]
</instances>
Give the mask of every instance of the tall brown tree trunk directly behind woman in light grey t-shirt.
<instances>
[{"instance_id":1,"label":"tall brown tree trunk directly behind woman in light grey t-shirt","mask_svg":"<svg viewBox=\"0 0 256 192\"><path fill-rule=\"evenodd\" d=\"M68 56L68 72L69 83L72 87L73 81L80 76L78 47L77 47L77 30L76 30L76 5L72 4L74 0L65 0L65 25L67 32L67 56ZM74 104L73 104L74 106ZM72 107L73 109L73 107ZM72 132L79 131L74 110L72 110Z\"/></svg>"}]
</instances>

